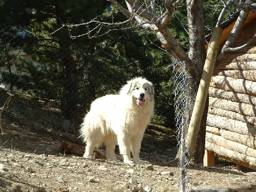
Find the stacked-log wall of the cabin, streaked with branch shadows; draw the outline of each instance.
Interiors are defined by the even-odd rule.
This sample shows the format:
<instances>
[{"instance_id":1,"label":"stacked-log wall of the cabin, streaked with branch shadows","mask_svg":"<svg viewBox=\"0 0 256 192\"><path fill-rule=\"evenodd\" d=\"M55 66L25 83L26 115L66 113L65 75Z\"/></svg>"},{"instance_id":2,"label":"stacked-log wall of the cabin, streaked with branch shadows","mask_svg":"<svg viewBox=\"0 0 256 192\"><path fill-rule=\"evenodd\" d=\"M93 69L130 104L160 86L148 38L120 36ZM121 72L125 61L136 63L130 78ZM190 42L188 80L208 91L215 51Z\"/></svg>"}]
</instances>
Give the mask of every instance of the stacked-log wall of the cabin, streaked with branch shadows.
<instances>
[{"instance_id":1,"label":"stacked-log wall of the cabin, streaked with branch shadows","mask_svg":"<svg viewBox=\"0 0 256 192\"><path fill-rule=\"evenodd\" d=\"M236 47L256 33L247 24ZM256 169L256 42L216 63L209 87L207 153ZM206 153L206 155L207 155ZM207 158L207 157L206 157ZM207 164L206 164L207 165Z\"/></svg>"}]
</instances>

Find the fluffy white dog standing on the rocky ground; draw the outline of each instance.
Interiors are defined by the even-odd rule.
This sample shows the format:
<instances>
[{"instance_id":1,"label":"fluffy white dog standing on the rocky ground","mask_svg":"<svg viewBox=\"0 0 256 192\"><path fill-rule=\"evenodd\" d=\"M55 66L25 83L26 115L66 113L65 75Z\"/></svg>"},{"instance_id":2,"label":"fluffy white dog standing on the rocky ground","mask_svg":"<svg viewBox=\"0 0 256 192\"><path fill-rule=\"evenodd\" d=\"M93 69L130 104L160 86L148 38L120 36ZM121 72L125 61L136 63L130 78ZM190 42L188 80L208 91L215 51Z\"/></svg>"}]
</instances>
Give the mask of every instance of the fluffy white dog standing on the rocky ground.
<instances>
[{"instance_id":1,"label":"fluffy white dog standing on the rocky ground","mask_svg":"<svg viewBox=\"0 0 256 192\"><path fill-rule=\"evenodd\" d=\"M81 124L80 134L86 142L83 157L92 157L94 147L104 143L106 159L117 161L114 150L118 143L124 163L143 164L139 157L141 140L153 113L153 84L141 77L127 81L118 95L96 99Z\"/></svg>"}]
</instances>

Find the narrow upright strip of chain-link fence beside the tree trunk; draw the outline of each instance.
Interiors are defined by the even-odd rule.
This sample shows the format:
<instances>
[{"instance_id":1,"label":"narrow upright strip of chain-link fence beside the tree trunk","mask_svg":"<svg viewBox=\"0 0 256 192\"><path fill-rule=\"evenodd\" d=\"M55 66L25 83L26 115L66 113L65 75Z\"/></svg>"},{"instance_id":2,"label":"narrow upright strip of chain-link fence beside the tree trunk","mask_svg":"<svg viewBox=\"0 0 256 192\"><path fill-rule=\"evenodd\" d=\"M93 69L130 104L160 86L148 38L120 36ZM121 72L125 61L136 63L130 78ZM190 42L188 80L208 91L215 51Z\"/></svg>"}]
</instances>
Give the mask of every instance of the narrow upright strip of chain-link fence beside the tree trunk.
<instances>
[{"instance_id":1,"label":"narrow upright strip of chain-link fence beside the tree trunk","mask_svg":"<svg viewBox=\"0 0 256 192\"><path fill-rule=\"evenodd\" d=\"M188 110L187 110L187 72L184 62L174 62L172 65L174 69L174 88L175 88L175 121L177 127L177 140L179 146L179 180L177 185L179 186L179 192L189 192L189 178L188 178L188 166L189 166L189 154L186 147L186 136L189 126Z\"/></svg>"}]
</instances>

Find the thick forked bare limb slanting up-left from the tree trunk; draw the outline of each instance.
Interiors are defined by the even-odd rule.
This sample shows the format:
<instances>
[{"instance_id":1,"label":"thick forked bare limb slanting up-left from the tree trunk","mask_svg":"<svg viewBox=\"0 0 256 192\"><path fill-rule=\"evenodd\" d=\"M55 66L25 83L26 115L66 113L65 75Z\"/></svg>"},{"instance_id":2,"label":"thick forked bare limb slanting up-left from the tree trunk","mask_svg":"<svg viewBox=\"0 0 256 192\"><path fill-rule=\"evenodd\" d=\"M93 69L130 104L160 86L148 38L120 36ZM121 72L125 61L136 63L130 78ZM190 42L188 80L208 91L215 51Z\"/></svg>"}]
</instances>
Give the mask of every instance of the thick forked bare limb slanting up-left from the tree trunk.
<instances>
[{"instance_id":1,"label":"thick forked bare limb slanting up-left from the tree trunk","mask_svg":"<svg viewBox=\"0 0 256 192\"><path fill-rule=\"evenodd\" d=\"M168 0L161 0L166 10L161 12L160 17L156 16L154 0L151 2L149 2L150 0L145 0L145 4L143 5L145 5L146 8L135 0L126 0L125 3L127 9L121 7L115 0L109 1L120 11L125 13L130 20L136 20L137 24L133 24L133 27L142 27L146 30L153 31L160 40L162 47L165 48L170 55L172 55L174 58L179 58L179 60L185 61L187 68L194 69L193 62L191 62L191 59L167 28L167 25L170 23L170 19L174 13L174 9L182 2L182 0L177 0L174 3L171 3ZM193 72L193 70L190 72Z\"/></svg>"}]
</instances>

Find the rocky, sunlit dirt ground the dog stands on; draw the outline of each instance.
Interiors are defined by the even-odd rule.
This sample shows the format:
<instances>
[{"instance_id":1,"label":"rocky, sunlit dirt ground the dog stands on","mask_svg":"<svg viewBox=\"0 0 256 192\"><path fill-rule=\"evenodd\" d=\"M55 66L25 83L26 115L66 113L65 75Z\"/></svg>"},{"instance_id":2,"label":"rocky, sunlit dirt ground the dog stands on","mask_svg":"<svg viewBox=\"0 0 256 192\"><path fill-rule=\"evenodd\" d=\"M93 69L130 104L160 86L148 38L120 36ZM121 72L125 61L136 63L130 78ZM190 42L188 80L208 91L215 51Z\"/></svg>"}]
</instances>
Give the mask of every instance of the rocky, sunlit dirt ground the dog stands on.
<instances>
[{"instance_id":1,"label":"rocky, sunlit dirt ground the dog stands on","mask_svg":"<svg viewBox=\"0 0 256 192\"><path fill-rule=\"evenodd\" d=\"M178 191L179 168L174 151L143 145L145 165L126 165L104 159L88 160L59 150L76 135L34 133L2 120L0 191ZM176 147L174 147L175 149ZM234 165L190 165L189 189L230 187L256 191L256 171L242 173Z\"/></svg>"}]
</instances>

